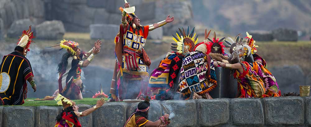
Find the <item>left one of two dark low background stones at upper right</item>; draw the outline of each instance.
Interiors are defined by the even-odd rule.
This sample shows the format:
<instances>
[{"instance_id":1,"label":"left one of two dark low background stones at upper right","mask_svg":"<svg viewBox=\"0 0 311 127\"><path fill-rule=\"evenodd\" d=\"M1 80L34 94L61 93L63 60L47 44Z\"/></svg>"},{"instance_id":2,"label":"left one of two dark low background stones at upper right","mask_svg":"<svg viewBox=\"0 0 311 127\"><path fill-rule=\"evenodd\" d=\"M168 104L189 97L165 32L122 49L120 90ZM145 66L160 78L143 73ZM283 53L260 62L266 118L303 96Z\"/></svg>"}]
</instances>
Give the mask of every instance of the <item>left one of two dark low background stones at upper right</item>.
<instances>
[{"instance_id":1,"label":"left one of two dark low background stones at upper right","mask_svg":"<svg viewBox=\"0 0 311 127\"><path fill-rule=\"evenodd\" d=\"M273 36L271 31L264 30L252 30L248 32L250 35L253 35L254 40L256 41L273 41Z\"/></svg>"}]
</instances>

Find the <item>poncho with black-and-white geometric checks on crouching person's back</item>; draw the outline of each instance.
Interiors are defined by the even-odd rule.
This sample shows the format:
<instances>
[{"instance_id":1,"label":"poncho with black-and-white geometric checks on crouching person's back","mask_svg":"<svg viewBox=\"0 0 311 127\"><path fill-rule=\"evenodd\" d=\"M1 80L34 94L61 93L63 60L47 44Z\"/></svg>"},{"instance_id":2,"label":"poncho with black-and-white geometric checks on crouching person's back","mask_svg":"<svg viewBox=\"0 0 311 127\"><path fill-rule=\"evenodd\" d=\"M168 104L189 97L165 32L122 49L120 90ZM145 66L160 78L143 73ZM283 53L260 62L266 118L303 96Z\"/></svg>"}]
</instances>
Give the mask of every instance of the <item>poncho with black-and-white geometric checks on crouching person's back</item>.
<instances>
[{"instance_id":1,"label":"poncho with black-and-white geometric checks on crouching person's back","mask_svg":"<svg viewBox=\"0 0 311 127\"><path fill-rule=\"evenodd\" d=\"M190 52L185 56L179 77L180 93L184 99L191 91L206 94L217 86L213 60L202 52Z\"/></svg>"}]
</instances>

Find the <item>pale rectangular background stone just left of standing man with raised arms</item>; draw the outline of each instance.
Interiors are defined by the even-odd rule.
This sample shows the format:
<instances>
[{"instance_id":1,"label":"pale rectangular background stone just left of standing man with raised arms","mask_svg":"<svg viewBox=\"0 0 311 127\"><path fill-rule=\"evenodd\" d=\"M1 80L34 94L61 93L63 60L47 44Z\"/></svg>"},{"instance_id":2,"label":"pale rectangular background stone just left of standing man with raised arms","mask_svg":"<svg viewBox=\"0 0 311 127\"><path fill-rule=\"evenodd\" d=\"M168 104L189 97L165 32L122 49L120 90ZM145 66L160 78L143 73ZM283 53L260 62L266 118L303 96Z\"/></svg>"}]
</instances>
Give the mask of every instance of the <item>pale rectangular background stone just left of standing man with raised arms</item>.
<instances>
[{"instance_id":1,"label":"pale rectangular background stone just left of standing man with raised arms","mask_svg":"<svg viewBox=\"0 0 311 127\"><path fill-rule=\"evenodd\" d=\"M114 24L91 24L90 37L91 39L114 40L114 37L119 31L119 25Z\"/></svg>"}]
</instances>

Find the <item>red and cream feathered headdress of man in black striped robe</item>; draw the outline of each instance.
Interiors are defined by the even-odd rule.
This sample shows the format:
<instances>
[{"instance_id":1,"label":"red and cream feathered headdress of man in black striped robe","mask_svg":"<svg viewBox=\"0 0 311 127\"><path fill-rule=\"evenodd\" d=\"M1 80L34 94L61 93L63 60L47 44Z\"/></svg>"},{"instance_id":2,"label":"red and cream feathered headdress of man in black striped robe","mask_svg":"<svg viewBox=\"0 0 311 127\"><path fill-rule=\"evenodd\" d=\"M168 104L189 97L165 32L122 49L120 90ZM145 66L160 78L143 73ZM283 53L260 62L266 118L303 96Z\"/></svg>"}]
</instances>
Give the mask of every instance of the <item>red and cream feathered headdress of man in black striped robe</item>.
<instances>
[{"instance_id":1,"label":"red and cream feathered headdress of man in black striped robe","mask_svg":"<svg viewBox=\"0 0 311 127\"><path fill-rule=\"evenodd\" d=\"M31 25L29 26L29 29L26 31L24 30L22 35L20 36L20 38L18 39L19 42L17 42L17 46L21 46L23 48L25 48L26 50L29 50L29 46L32 42L32 39L35 38L34 37L34 32L31 31Z\"/></svg>"}]
</instances>

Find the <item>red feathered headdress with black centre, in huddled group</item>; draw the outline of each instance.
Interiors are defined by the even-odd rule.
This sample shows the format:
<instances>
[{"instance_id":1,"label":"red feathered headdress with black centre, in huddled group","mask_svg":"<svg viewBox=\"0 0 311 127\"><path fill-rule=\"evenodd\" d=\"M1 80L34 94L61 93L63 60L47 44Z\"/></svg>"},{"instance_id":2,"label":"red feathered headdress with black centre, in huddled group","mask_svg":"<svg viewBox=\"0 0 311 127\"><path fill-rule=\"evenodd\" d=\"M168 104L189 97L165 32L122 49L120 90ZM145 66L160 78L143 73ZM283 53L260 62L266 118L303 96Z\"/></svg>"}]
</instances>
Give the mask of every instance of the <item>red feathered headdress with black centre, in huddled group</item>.
<instances>
[{"instance_id":1,"label":"red feathered headdress with black centre, in huddled group","mask_svg":"<svg viewBox=\"0 0 311 127\"><path fill-rule=\"evenodd\" d=\"M211 40L210 38L207 38L210 42L208 42L207 44L207 50L208 50L208 53L221 53L221 54L225 54L225 46L223 45L223 40L225 39L224 38L221 38L219 40L219 38L216 39L216 32L214 32L214 37L213 37L213 40ZM221 52L219 51L221 50Z\"/></svg>"}]
</instances>

